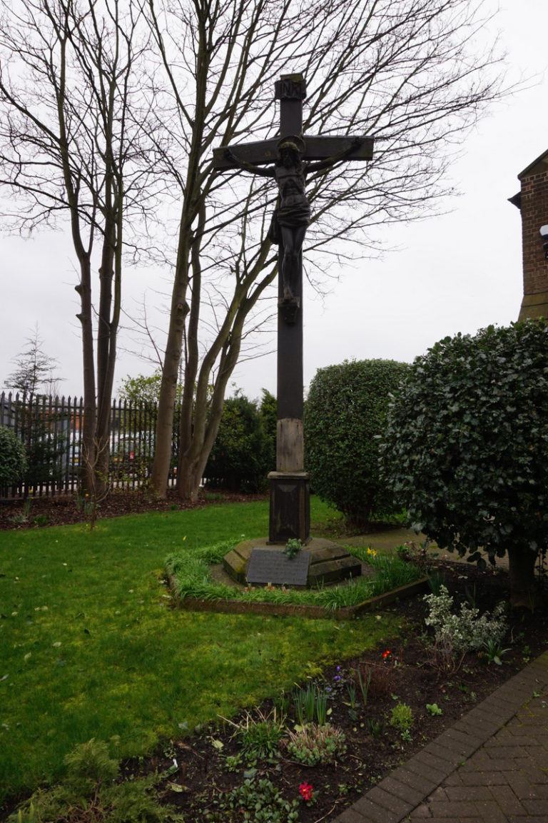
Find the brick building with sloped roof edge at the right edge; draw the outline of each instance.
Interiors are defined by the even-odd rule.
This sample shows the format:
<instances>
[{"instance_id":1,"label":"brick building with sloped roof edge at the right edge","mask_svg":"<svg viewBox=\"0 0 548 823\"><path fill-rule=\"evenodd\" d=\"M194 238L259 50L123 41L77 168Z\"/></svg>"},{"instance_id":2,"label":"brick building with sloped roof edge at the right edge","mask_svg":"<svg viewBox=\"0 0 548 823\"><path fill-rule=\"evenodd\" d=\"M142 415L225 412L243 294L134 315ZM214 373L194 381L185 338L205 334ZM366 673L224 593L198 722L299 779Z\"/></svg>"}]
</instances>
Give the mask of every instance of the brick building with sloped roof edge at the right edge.
<instances>
[{"instance_id":1,"label":"brick building with sloped roof edge at the right edge","mask_svg":"<svg viewBox=\"0 0 548 823\"><path fill-rule=\"evenodd\" d=\"M509 198L522 213L523 300L518 319L548 318L548 150L518 174L518 180L521 191Z\"/></svg>"}]
</instances>

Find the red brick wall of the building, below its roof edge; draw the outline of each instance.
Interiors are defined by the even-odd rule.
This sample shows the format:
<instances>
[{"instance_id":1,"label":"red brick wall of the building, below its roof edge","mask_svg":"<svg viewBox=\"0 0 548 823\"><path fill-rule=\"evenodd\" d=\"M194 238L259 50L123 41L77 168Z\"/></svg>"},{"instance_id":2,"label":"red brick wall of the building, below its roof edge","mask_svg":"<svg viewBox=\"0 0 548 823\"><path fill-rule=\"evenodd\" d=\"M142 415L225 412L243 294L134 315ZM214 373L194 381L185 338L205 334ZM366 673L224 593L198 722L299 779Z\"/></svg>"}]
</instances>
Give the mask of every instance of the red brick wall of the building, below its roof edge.
<instances>
[{"instance_id":1,"label":"red brick wall of the building, below its roof edge","mask_svg":"<svg viewBox=\"0 0 548 823\"><path fill-rule=\"evenodd\" d=\"M548 170L522 177L523 295L548 292L548 260L539 233L548 225Z\"/></svg>"}]
</instances>

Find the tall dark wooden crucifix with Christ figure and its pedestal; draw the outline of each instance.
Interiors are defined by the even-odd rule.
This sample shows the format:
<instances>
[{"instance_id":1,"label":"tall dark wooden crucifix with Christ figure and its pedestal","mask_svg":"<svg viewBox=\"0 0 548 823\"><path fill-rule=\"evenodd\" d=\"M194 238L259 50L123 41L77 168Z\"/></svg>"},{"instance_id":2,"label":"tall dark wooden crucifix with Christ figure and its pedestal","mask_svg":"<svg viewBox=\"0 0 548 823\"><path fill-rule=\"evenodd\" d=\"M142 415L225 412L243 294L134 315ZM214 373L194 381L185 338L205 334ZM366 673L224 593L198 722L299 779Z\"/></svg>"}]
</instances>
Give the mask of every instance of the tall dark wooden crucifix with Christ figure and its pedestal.
<instances>
[{"instance_id":1,"label":"tall dark wooden crucifix with Christ figure and its pedestal","mask_svg":"<svg viewBox=\"0 0 548 823\"><path fill-rule=\"evenodd\" d=\"M280 100L280 132L261 142L220 146L213 151L217 170L239 169L271 177L278 186L269 237L278 244L276 471L270 472L268 542L291 538L309 542L309 476L304 472L303 439L303 263L302 247L310 222L306 175L329 170L343 160L371 160L372 137L303 135L304 77L286 74L275 83Z\"/></svg>"}]
</instances>

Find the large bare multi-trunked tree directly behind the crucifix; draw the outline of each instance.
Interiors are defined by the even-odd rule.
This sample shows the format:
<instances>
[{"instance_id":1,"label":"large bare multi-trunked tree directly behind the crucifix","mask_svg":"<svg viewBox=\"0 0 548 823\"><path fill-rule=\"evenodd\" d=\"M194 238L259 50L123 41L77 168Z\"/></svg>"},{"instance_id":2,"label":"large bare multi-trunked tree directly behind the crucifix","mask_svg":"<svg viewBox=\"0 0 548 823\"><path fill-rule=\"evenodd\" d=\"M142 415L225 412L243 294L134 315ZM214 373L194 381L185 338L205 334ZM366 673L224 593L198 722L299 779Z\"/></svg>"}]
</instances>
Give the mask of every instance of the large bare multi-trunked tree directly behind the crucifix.
<instances>
[{"instance_id":1,"label":"large bare multi-trunked tree directly behind the crucifix","mask_svg":"<svg viewBox=\"0 0 548 823\"><path fill-rule=\"evenodd\" d=\"M367 168L312 174L309 277L365 257L378 226L434 212L452 148L502 93L499 59L480 37L481 0L149 0L168 80L179 154L164 157L179 187L174 287L152 483L165 494L175 385L184 386L178 489L193 499L221 418L244 328L269 293L276 249L267 228L276 192L243 174L221 181L219 145L275 137L274 81L302 72L304 133L368 134ZM215 311L213 311L215 309ZM204 322L205 321L205 322ZM208 387L212 385L211 391Z\"/></svg>"}]
</instances>

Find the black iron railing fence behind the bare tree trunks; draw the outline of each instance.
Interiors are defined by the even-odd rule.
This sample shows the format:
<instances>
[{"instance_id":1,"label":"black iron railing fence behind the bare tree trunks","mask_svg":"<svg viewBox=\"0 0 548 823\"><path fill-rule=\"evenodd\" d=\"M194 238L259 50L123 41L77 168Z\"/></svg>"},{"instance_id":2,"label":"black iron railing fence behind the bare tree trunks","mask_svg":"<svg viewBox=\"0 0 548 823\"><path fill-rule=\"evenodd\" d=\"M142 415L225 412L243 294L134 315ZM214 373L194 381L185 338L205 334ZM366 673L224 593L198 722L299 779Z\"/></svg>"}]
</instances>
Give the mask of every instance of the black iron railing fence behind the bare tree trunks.
<instances>
[{"instance_id":1,"label":"black iron railing fence behind the bare tree trunks","mask_svg":"<svg viewBox=\"0 0 548 823\"><path fill-rule=\"evenodd\" d=\"M137 405L114 400L110 409L109 483L118 488L141 486L151 472L155 448L156 403ZM77 491L86 455L82 444L82 398L42 394L0 395L0 425L25 445L27 469L14 486L0 488L0 499ZM170 481L177 463L175 420Z\"/></svg>"}]
</instances>

